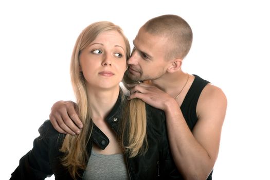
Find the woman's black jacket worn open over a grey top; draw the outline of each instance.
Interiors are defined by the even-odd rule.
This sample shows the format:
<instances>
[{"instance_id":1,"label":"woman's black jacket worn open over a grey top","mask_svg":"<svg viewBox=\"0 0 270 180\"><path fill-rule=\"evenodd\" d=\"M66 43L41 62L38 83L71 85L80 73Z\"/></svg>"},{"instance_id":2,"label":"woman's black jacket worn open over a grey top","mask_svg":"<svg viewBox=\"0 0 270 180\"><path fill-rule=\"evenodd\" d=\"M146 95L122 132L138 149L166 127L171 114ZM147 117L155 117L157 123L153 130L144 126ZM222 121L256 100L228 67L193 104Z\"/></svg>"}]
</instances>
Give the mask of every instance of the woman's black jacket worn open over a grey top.
<instances>
[{"instance_id":1,"label":"woman's black jacket worn open over a grey top","mask_svg":"<svg viewBox=\"0 0 270 180\"><path fill-rule=\"evenodd\" d=\"M106 121L119 135L121 133L121 98L107 116ZM167 137L165 114L147 105L147 138L149 149L145 155L129 158L125 154L130 179L182 179L172 160ZM62 165L59 152L64 135L58 133L47 120L39 129L40 136L34 139L33 149L20 159L20 164L10 179L44 179L52 174L56 179L72 179ZM101 149L109 144L109 139L95 125L91 140L87 144L91 155L92 143ZM79 171L83 176L84 170ZM81 179L78 177L77 179Z\"/></svg>"}]
</instances>

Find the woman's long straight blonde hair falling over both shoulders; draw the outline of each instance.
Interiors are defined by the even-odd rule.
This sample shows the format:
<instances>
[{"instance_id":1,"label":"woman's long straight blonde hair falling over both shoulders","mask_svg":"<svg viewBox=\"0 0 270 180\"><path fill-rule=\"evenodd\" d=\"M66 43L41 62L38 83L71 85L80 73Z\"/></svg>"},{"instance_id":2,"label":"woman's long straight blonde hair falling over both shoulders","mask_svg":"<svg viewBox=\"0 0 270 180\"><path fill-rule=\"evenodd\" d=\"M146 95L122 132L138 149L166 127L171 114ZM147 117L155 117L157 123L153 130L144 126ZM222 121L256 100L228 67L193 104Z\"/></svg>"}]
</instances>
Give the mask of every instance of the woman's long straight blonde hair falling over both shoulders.
<instances>
[{"instance_id":1,"label":"woman's long straight blonde hair falling over both shoulders","mask_svg":"<svg viewBox=\"0 0 270 180\"><path fill-rule=\"evenodd\" d=\"M127 60L130 57L130 44L128 39L123 34L122 29L111 22L96 22L87 26L79 35L70 62L70 76L71 83L73 85L74 93L78 104L79 118L83 123L83 129L79 135L65 136L61 152L64 152L62 157L63 166L67 167L70 175L76 179L79 175L80 169L85 169L88 161L88 152L86 145L91 137L93 122L91 120L91 114L89 111L88 95L86 90L86 80L80 74L79 56L80 52L86 48L91 42L93 42L97 36L104 31L115 30L121 34L125 43L125 57ZM123 101L123 103L127 103ZM143 141L146 141L146 109L145 103L141 100L132 100L125 105L125 114L123 121L127 121L127 124L123 123L125 127L122 127L123 134L128 133L128 145L123 146L123 149L127 151L131 157L136 156L141 150ZM136 112L134 112L136 111ZM128 127L128 128L127 128ZM123 135L120 137L123 142ZM141 150L141 151L140 151Z\"/></svg>"}]
</instances>

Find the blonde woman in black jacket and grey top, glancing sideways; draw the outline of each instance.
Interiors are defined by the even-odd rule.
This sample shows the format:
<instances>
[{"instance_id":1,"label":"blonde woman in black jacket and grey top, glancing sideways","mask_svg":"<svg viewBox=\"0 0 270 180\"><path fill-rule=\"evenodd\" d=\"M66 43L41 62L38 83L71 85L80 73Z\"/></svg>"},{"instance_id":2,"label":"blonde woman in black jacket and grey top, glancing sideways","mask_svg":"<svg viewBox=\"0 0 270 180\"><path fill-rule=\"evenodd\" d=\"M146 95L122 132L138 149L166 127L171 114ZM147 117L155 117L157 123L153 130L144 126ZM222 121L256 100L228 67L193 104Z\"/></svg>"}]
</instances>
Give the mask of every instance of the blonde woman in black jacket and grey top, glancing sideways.
<instances>
[{"instance_id":1,"label":"blonde woman in black jacket and grey top, glancing sideways","mask_svg":"<svg viewBox=\"0 0 270 180\"><path fill-rule=\"evenodd\" d=\"M79 135L40 127L33 149L10 179L177 179L165 115L141 100L127 101L121 82L130 45L120 27L97 22L79 35L70 75L83 122Z\"/></svg>"}]
</instances>

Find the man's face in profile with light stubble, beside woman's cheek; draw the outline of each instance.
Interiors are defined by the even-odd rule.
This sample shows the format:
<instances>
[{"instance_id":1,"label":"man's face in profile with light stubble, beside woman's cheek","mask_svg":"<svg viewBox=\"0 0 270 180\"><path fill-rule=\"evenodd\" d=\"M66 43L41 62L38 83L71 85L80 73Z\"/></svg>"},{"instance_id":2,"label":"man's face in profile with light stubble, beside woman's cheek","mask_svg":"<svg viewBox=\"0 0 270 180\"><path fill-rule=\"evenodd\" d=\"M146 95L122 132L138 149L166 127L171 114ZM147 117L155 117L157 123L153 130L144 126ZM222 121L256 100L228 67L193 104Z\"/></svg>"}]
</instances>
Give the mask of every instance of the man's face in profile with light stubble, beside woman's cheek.
<instances>
[{"instance_id":1,"label":"man's face in profile with light stubble, beside woman's cheek","mask_svg":"<svg viewBox=\"0 0 270 180\"><path fill-rule=\"evenodd\" d=\"M163 76L169 62L167 38L152 35L141 28L133 41L134 48L128 60L128 75L133 81L155 80Z\"/></svg>"}]
</instances>

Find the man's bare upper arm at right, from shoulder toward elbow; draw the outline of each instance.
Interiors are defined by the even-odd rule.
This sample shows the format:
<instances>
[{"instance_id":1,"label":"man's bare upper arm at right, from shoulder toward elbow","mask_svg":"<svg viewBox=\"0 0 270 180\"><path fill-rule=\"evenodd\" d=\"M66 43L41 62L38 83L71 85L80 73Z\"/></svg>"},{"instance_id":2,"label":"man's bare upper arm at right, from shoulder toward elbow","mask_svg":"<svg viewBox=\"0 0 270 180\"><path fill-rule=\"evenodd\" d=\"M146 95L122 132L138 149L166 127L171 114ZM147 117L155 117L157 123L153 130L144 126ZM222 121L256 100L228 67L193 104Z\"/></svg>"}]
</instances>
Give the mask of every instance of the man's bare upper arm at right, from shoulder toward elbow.
<instances>
[{"instance_id":1,"label":"man's bare upper arm at right, from shoulder toward elbow","mask_svg":"<svg viewBox=\"0 0 270 180\"><path fill-rule=\"evenodd\" d=\"M192 130L213 163L217 159L227 100L220 88L206 86L197 104L198 121Z\"/></svg>"}]
</instances>

